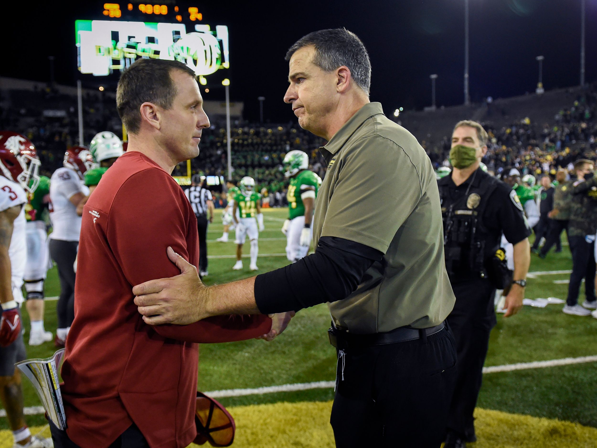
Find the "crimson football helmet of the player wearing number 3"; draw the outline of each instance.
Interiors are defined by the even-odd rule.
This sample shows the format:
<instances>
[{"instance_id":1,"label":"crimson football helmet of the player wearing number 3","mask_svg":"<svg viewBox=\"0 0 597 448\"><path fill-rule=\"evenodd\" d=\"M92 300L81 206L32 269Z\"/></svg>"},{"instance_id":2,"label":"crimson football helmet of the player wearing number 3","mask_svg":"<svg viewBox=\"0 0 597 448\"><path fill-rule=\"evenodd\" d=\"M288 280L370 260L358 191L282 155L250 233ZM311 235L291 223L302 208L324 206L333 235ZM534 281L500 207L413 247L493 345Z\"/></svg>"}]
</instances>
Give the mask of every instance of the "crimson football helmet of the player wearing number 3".
<instances>
[{"instance_id":1,"label":"crimson football helmet of the player wearing number 3","mask_svg":"<svg viewBox=\"0 0 597 448\"><path fill-rule=\"evenodd\" d=\"M33 193L39 185L39 165L35 146L29 139L16 132L0 131L0 174Z\"/></svg>"}]
</instances>

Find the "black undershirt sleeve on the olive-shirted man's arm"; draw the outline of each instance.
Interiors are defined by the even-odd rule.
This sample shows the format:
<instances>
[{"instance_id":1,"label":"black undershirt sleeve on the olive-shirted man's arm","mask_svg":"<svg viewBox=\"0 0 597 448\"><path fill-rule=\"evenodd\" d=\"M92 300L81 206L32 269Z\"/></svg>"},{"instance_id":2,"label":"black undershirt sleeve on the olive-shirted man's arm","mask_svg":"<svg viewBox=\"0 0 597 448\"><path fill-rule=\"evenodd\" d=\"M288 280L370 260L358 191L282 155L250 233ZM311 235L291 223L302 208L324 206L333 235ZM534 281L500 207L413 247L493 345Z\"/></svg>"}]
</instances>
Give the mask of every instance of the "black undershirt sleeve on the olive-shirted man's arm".
<instances>
[{"instance_id":1,"label":"black undershirt sleeve on the olive-shirted man's arm","mask_svg":"<svg viewBox=\"0 0 597 448\"><path fill-rule=\"evenodd\" d=\"M262 314L345 299L383 253L344 238L322 237L315 253L292 265L257 275L255 302Z\"/></svg>"}]
</instances>

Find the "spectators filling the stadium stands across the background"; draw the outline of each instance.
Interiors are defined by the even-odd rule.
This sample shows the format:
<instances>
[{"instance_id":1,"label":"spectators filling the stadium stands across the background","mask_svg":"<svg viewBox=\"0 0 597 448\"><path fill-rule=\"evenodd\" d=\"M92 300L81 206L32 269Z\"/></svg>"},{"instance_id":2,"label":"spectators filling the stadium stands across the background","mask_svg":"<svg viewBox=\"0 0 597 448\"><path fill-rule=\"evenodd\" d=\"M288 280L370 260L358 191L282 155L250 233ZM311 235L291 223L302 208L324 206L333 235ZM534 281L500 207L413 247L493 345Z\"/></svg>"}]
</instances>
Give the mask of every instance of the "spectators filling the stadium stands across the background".
<instances>
[{"instance_id":1,"label":"spectators filling the stadium stands across the background","mask_svg":"<svg viewBox=\"0 0 597 448\"><path fill-rule=\"evenodd\" d=\"M15 102L16 97L26 101ZM27 107L14 106L17 104ZM85 141L103 130L121 134L118 114L111 101L104 105L102 93L86 93L83 104ZM52 111L56 113L53 115ZM496 175L506 167L515 167L522 175L534 176L547 173L553 177L558 167L572 171L573 162L579 158L597 159L596 115L597 86L593 84L578 94L573 104L562 105L550 123L535 123L528 117L507 126L483 122L490 138L483 161ZM33 92L4 92L0 103L0 128L21 130L34 142L42 162L41 173L50 176L61 166L64 151L78 144L76 99L49 87ZM232 128L232 177L236 181L244 176L253 177L257 190L273 197L272 205L276 204L276 198L282 205L287 187L282 172L284 155L293 149L305 151L311 169L323 178L325 165L318 148L324 144L324 140L291 123L262 125L238 121ZM433 134L421 142L435 168L449 165L450 144L448 137ZM227 177L226 146L225 126L213 122L201 142L199 157L192 161L192 174ZM186 175L186 165L181 164L174 174ZM216 201L216 207L224 207L223 201Z\"/></svg>"}]
</instances>

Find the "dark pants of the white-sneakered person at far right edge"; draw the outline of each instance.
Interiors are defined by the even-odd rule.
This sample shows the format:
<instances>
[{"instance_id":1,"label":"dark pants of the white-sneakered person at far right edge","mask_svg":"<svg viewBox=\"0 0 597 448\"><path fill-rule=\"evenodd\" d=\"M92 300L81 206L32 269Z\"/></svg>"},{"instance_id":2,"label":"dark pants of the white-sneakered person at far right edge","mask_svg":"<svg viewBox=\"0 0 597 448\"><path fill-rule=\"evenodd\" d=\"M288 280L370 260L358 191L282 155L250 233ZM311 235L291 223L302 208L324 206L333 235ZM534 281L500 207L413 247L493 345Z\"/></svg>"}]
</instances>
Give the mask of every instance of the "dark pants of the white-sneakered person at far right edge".
<instances>
[{"instance_id":1,"label":"dark pants of the white-sneakered person at far right edge","mask_svg":"<svg viewBox=\"0 0 597 448\"><path fill-rule=\"evenodd\" d=\"M584 237L570 237L572 274L568 284L566 304L576 305L578 290L584 278L584 293L589 302L595 300L595 243L587 243Z\"/></svg>"}]
</instances>

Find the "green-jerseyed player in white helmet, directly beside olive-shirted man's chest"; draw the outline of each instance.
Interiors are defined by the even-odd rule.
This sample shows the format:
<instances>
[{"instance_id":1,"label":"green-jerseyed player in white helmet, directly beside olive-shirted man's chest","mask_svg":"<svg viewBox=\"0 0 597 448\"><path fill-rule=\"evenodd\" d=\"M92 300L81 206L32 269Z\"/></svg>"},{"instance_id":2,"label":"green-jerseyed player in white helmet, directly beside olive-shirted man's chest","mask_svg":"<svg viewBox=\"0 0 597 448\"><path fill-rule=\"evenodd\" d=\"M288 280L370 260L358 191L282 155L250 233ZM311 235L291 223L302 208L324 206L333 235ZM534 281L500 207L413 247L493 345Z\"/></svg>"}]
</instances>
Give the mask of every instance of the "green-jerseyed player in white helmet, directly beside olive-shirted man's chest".
<instances>
[{"instance_id":1,"label":"green-jerseyed player in white helmet, directly beside olive-shirted man's chest","mask_svg":"<svg viewBox=\"0 0 597 448\"><path fill-rule=\"evenodd\" d=\"M290 179L286 195L288 219L282 225L282 233L286 235L286 256L295 263L309 251L313 235L311 222L321 178L307 170L309 156L299 149L288 152L282 163L284 176Z\"/></svg>"}]
</instances>

